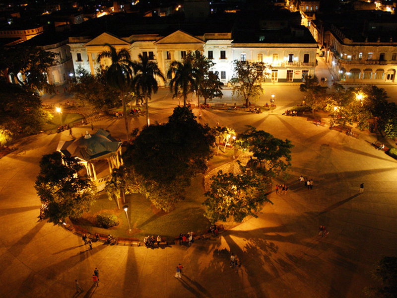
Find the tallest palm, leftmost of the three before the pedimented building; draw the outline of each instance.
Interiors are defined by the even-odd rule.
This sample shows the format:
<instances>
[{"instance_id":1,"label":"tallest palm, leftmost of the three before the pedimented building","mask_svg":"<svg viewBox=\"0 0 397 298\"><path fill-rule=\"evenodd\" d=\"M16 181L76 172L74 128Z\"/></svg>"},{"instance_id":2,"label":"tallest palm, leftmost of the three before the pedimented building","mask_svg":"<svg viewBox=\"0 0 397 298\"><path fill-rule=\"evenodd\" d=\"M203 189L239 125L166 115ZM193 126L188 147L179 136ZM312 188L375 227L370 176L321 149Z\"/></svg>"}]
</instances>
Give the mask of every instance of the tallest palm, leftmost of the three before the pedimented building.
<instances>
[{"instance_id":1,"label":"tallest palm, leftmost of the three before the pedimented building","mask_svg":"<svg viewBox=\"0 0 397 298\"><path fill-rule=\"evenodd\" d=\"M127 108L126 108L126 95L131 88L132 80L132 62L130 52L127 49L117 51L115 47L110 44L104 44L109 47L108 51L104 51L98 55L97 61L100 62L103 58L111 60L110 66L106 70L106 82L112 88L121 92L121 99L123 103L123 115L126 124L127 141L129 140Z\"/></svg>"}]
</instances>

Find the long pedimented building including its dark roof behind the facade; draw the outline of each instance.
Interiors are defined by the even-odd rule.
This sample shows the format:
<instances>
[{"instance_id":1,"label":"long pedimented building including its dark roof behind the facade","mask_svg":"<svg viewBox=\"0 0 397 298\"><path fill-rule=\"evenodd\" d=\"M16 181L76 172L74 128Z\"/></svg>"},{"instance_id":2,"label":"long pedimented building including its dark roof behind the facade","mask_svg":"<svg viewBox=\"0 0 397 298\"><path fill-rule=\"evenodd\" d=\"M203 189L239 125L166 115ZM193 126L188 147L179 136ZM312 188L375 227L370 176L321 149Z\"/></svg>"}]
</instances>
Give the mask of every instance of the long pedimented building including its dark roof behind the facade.
<instances>
[{"instance_id":1,"label":"long pedimented building including its dark roof behind the facade","mask_svg":"<svg viewBox=\"0 0 397 298\"><path fill-rule=\"evenodd\" d=\"M189 51L199 50L215 63L214 70L225 84L233 77L235 60L271 64L268 82L301 82L307 75L314 75L317 43L309 30L300 26L299 13L297 24L291 24L287 17L284 12L262 19L245 17L246 23L236 16L181 23L173 17L114 14L92 20L93 24L81 24L81 30L69 37L68 45L74 69L81 67L92 74L101 67L98 54L108 50L105 44L110 44L117 50L128 49L132 60L137 60L139 54L149 57L158 63L163 74L172 61L181 61ZM115 19L119 26L112 26ZM159 85L164 84L167 81L159 80Z\"/></svg>"}]
</instances>

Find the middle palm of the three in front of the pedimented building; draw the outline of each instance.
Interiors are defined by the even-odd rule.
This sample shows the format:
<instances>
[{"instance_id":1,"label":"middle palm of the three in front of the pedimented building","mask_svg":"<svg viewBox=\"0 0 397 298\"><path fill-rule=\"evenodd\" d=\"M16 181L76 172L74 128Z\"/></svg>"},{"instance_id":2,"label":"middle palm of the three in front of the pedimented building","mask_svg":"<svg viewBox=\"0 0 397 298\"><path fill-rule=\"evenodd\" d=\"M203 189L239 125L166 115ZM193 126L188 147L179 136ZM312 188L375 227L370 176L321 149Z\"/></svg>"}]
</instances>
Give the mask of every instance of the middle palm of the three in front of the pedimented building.
<instances>
[{"instance_id":1,"label":"middle palm of the three in front of the pedimented building","mask_svg":"<svg viewBox=\"0 0 397 298\"><path fill-rule=\"evenodd\" d=\"M155 76L160 77L163 81L165 80L164 75L159 70L157 63L149 61L148 57L143 57L139 54L139 62L133 62L132 69L134 71L134 78L132 80L132 86L134 90L139 94L143 94L145 98L146 107L146 124L149 126L149 109L147 106L147 99L151 93L157 93L158 84Z\"/></svg>"}]
</instances>

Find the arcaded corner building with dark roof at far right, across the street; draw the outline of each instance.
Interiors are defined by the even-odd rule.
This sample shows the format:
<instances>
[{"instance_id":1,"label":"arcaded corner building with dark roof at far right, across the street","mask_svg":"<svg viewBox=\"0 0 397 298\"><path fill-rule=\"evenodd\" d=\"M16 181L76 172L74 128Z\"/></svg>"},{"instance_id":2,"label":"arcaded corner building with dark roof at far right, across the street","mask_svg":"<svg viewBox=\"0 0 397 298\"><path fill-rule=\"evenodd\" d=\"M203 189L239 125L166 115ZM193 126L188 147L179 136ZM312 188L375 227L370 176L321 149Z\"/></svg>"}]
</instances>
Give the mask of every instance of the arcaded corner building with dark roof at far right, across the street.
<instances>
[{"instance_id":1,"label":"arcaded corner building with dark roof at far right, across the street","mask_svg":"<svg viewBox=\"0 0 397 298\"><path fill-rule=\"evenodd\" d=\"M396 83L397 19L382 11L323 16L310 26L336 79Z\"/></svg>"}]
</instances>

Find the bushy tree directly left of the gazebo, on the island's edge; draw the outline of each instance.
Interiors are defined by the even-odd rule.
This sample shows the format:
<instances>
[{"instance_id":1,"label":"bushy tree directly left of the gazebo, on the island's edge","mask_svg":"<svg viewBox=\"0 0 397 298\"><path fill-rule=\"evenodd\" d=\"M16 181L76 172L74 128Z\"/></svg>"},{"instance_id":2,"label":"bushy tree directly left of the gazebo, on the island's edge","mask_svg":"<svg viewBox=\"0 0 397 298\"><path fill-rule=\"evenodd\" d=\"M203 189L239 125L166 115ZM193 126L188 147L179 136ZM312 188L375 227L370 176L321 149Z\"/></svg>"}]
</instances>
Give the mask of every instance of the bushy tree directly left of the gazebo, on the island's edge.
<instances>
[{"instance_id":1,"label":"bushy tree directly left of the gazebo, on the island's edge","mask_svg":"<svg viewBox=\"0 0 397 298\"><path fill-rule=\"evenodd\" d=\"M43 155L35 189L47 206L44 218L62 224L66 218L77 219L94 203L95 186L87 177L78 176L83 166L74 157L60 152Z\"/></svg>"}]
</instances>

